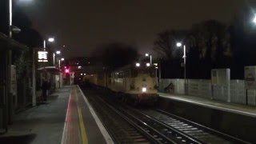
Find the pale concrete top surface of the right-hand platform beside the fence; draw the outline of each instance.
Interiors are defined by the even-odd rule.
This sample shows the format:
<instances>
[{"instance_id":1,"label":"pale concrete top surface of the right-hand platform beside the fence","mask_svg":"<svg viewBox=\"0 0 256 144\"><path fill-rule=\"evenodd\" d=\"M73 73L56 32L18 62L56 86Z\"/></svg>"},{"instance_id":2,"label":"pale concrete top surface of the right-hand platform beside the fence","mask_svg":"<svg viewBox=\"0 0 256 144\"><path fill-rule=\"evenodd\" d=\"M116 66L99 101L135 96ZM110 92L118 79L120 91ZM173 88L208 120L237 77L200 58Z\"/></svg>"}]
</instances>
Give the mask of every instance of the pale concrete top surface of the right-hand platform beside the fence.
<instances>
[{"instance_id":1,"label":"pale concrete top surface of the right-hand platform beside the fence","mask_svg":"<svg viewBox=\"0 0 256 144\"><path fill-rule=\"evenodd\" d=\"M171 98L180 102L189 102L198 106L206 106L208 108L213 108L216 110L223 110L226 112L231 112L234 114L242 114L250 117L256 118L256 107L254 106L244 106L235 103L220 102L216 100L211 100L207 98L198 98L194 96L187 95L177 95L177 94L166 94L158 93L159 96L164 98Z\"/></svg>"}]
</instances>

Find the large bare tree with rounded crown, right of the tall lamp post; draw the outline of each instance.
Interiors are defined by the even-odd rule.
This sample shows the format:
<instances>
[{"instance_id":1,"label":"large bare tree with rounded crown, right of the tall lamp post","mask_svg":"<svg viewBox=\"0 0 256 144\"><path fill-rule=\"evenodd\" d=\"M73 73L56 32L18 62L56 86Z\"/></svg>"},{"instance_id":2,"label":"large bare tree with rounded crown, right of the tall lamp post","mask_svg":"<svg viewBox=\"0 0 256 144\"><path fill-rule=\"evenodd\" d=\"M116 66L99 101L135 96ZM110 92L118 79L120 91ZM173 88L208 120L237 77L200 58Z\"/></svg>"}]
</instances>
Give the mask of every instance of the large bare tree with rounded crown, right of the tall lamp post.
<instances>
[{"instance_id":1,"label":"large bare tree with rounded crown, right of the tall lamp post","mask_svg":"<svg viewBox=\"0 0 256 144\"><path fill-rule=\"evenodd\" d=\"M201 22L190 30L190 46L197 48L200 58L216 62L230 54L230 35L224 24L215 20Z\"/></svg>"}]
</instances>

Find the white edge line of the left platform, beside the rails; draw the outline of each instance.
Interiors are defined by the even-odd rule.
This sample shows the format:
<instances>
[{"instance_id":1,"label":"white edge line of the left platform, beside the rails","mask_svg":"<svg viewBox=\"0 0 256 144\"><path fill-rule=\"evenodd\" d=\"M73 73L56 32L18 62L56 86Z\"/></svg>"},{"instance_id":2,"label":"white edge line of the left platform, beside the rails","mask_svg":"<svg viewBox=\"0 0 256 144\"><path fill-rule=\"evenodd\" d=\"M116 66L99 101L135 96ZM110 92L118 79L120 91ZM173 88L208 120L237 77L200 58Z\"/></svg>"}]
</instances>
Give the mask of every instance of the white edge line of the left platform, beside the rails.
<instances>
[{"instance_id":1,"label":"white edge line of the left platform, beside the rails","mask_svg":"<svg viewBox=\"0 0 256 144\"><path fill-rule=\"evenodd\" d=\"M79 90L80 90L80 92L81 92L81 94L82 94L82 98L85 100L85 102L86 102L86 104L87 104L87 106L88 106L88 108L89 108L89 110L90 110L90 114L93 115L94 120L95 120L95 122L97 123L99 130L101 130L102 135L103 135L103 137L104 137L105 140L106 140L106 143L108 143L108 144L114 144L112 138L110 137L110 134L107 132L105 126L103 126L101 120L98 118L98 115L95 113L93 107L90 106L90 102L87 100L85 94L83 94L83 92L82 92L80 86L78 86L78 88L79 88Z\"/></svg>"}]
</instances>

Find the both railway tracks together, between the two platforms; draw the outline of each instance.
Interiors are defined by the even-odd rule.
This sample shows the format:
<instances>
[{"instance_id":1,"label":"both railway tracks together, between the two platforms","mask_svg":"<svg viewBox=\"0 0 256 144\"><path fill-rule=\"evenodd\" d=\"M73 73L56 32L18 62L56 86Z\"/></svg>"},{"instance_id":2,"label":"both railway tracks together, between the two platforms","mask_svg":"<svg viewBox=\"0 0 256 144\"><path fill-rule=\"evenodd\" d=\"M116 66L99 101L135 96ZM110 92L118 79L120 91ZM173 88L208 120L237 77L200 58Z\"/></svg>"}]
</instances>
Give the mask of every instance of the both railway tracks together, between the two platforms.
<instances>
[{"instance_id":1,"label":"both railway tracks together, between the two platforms","mask_svg":"<svg viewBox=\"0 0 256 144\"><path fill-rule=\"evenodd\" d=\"M97 96L90 102L117 143L246 143L161 110L134 109Z\"/></svg>"}]
</instances>

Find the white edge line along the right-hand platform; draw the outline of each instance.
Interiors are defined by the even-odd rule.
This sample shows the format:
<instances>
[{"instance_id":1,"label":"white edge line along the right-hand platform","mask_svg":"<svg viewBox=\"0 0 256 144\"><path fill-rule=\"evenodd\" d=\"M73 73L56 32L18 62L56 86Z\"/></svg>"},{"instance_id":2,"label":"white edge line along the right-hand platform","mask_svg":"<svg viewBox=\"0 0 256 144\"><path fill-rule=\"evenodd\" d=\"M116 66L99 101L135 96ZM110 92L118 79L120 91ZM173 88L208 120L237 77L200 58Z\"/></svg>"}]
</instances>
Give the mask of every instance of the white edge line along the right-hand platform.
<instances>
[{"instance_id":1,"label":"white edge line along the right-hand platform","mask_svg":"<svg viewBox=\"0 0 256 144\"><path fill-rule=\"evenodd\" d=\"M173 96L162 95L162 94L159 94L159 95L161 97L174 99L174 100L180 101L180 102L189 102L189 103L192 103L192 104L196 104L198 106L205 106L205 107L208 107L208 108L214 108L214 109L223 110L223 111L226 111L226 112L233 112L235 114L242 114L242 115L246 115L246 116L250 116L250 117L256 117L256 114L246 112L246 111L242 111L242 110L234 110L232 108L227 108L227 107L207 105L207 104L203 104L203 103L200 103L200 102L193 102L193 101L190 101L190 100L186 100L185 98L173 98Z\"/></svg>"}]
</instances>

